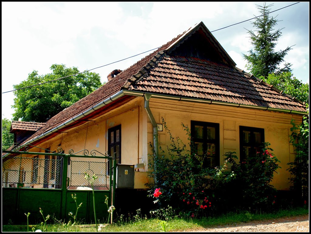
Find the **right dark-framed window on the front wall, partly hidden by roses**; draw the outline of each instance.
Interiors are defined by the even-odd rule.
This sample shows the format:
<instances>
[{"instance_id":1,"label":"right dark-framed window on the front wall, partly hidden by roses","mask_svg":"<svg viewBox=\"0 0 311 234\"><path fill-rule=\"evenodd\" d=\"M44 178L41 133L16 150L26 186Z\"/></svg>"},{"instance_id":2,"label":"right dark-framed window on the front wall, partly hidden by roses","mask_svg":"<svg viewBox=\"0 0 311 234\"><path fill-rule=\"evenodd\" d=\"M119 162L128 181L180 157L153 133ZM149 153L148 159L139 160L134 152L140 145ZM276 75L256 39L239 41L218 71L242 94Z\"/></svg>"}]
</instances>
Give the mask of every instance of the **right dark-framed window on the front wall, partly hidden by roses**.
<instances>
[{"instance_id":1,"label":"right dark-framed window on the front wall, partly hidden by roses","mask_svg":"<svg viewBox=\"0 0 311 234\"><path fill-rule=\"evenodd\" d=\"M264 141L263 128L240 126L240 162L259 152Z\"/></svg>"}]
</instances>

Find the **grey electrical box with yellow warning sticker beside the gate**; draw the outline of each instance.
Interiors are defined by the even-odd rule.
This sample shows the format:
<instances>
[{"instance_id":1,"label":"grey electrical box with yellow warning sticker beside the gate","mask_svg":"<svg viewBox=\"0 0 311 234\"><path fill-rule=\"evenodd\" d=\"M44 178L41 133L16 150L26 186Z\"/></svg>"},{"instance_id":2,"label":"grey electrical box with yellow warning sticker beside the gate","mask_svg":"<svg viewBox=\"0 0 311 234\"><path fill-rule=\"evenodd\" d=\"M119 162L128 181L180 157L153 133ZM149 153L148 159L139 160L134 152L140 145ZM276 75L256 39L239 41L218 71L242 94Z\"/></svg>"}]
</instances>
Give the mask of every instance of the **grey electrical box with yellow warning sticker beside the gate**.
<instances>
[{"instance_id":1,"label":"grey electrical box with yellow warning sticker beside the gate","mask_svg":"<svg viewBox=\"0 0 311 234\"><path fill-rule=\"evenodd\" d=\"M134 188L134 165L117 164L117 188Z\"/></svg>"}]
</instances>

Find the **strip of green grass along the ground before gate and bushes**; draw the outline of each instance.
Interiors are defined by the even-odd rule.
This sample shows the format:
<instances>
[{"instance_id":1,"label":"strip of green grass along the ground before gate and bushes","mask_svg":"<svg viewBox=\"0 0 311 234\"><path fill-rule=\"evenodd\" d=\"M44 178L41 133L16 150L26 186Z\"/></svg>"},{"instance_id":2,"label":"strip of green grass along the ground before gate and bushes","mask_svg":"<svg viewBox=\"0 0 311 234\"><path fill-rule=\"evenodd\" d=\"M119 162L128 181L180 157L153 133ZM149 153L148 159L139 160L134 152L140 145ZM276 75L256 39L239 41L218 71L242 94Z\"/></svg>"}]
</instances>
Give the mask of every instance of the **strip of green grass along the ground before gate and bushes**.
<instances>
[{"instance_id":1,"label":"strip of green grass along the ground before gate and bushes","mask_svg":"<svg viewBox=\"0 0 311 234\"><path fill-rule=\"evenodd\" d=\"M107 232L180 232L189 229L199 229L215 227L219 225L233 224L233 223L243 223L253 220L267 220L282 217L294 217L299 215L309 214L309 209L305 208L295 208L279 210L275 213L227 213L218 217L204 217L200 219L192 218L178 218L175 217L169 221L161 221L157 218L136 218L130 220L130 222L116 222L112 225L108 225L107 228L104 227L102 231ZM41 225L29 225L29 230L35 227L35 230L42 230ZM65 228L61 224L48 224L48 232L64 232ZM75 232L74 227L69 227L69 232ZM77 232L96 232L95 224L77 224ZM2 225L2 232L27 232L27 225Z\"/></svg>"}]
</instances>

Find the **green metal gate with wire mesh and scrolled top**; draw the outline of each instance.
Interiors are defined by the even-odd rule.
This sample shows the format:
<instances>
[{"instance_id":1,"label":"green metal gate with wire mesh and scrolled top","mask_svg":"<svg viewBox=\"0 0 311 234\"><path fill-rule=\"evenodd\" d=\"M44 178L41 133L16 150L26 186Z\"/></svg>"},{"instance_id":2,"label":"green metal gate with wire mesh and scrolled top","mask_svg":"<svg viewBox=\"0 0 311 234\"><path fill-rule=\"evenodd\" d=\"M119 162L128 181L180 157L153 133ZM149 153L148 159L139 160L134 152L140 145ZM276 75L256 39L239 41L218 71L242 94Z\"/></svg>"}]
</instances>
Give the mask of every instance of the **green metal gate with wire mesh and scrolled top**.
<instances>
[{"instance_id":1,"label":"green metal gate with wire mesh and scrolled top","mask_svg":"<svg viewBox=\"0 0 311 234\"><path fill-rule=\"evenodd\" d=\"M2 224L11 221L14 224L24 224L25 213L28 212L30 222L40 223L42 215L39 208L43 210L44 216L48 214L51 216L50 220L67 222L70 218L68 213L76 211L76 204L72 199L74 194L77 196L77 203L82 202L77 220L94 223L91 188L95 194L96 218L99 222L106 222L109 215L104 203L106 196L109 197L109 204L114 205L115 158L109 156L108 152L102 154L96 150L92 150L89 156L86 149L77 153L71 149L69 154L63 154L61 148L58 148L58 153L52 151L49 153L46 149L44 150L47 153L29 152L33 147L39 148L29 144L23 146L16 144L12 150L2 151L15 154L2 157ZM77 155L80 152L83 152L82 155ZM16 154L20 156L17 157ZM23 154L33 156L22 157ZM44 158L39 158L39 155L44 155ZM108 171L109 175L113 176L107 176ZM92 183L93 186L84 178L85 172L90 176L93 174L97 176Z\"/></svg>"}]
</instances>

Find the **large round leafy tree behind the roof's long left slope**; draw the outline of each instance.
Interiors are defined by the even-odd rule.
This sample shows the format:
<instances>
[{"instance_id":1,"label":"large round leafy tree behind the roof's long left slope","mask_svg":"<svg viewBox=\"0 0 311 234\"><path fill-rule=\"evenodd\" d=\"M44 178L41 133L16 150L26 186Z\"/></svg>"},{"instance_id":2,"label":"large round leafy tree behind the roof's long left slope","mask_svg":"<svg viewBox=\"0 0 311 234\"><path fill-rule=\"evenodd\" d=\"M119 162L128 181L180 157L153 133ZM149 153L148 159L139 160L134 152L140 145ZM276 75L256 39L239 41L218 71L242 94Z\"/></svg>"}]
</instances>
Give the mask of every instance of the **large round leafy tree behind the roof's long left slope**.
<instances>
[{"instance_id":1,"label":"large round leafy tree behind the roof's long left slope","mask_svg":"<svg viewBox=\"0 0 311 234\"><path fill-rule=\"evenodd\" d=\"M83 72L70 76L80 71L63 64L53 64L50 69L52 73L42 76L38 75L38 71L32 71L27 80L13 85L14 89L19 89L14 91L16 98L12 105L15 108L13 120L46 122L102 85L97 73ZM65 76L70 77L55 80ZM51 80L55 81L44 83ZM37 85L40 83L44 84ZM20 89L31 85L36 86Z\"/></svg>"}]
</instances>

